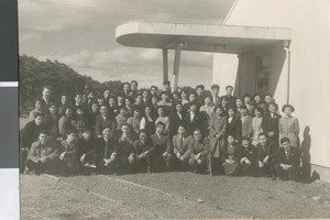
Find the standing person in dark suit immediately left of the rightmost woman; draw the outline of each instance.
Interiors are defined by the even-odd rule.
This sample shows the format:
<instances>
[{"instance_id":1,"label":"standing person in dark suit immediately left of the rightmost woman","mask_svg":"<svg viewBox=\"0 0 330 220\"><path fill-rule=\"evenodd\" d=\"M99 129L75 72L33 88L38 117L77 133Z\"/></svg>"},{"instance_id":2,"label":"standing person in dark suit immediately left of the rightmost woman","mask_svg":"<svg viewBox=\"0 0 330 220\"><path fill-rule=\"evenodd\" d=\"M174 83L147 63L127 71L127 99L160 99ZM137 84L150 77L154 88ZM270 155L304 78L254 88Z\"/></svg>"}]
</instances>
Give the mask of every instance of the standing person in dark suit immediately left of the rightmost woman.
<instances>
[{"instance_id":1,"label":"standing person in dark suit immediately left of the rightmost woman","mask_svg":"<svg viewBox=\"0 0 330 220\"><path fill-rule=\"evenodd\" d=\"M268 112L266 112L262 120L262 129L263 132L266 133L270 138L271 142L274 142L276 146L279 146L279 130L278 130L278 121L280 116L276 113L278 107L276 103L270 103Z\"/></svg>"}]
</instances>

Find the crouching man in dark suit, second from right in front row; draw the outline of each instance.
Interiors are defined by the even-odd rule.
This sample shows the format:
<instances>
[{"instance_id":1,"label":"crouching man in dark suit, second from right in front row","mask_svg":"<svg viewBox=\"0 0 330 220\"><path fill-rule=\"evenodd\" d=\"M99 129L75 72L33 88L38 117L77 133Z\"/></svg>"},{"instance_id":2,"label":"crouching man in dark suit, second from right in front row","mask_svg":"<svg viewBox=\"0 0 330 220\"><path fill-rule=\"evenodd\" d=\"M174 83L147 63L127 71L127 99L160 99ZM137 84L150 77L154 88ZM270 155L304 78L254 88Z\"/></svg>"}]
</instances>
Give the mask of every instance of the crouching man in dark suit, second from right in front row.
<instances>
[{"instance_id":1,"label":"crouching man in dark suit, second from right in front row","mask_svg":"<svg viewBox=\"0 0 330 220\"><path fill-rule=\"evenodd\" d=\"M258 144L256 144L256 163L258 176L272 176L276 179L275 162L277 147L273 142L268 142L265 133L258 134Z\"/></svg>"}]
</instances>

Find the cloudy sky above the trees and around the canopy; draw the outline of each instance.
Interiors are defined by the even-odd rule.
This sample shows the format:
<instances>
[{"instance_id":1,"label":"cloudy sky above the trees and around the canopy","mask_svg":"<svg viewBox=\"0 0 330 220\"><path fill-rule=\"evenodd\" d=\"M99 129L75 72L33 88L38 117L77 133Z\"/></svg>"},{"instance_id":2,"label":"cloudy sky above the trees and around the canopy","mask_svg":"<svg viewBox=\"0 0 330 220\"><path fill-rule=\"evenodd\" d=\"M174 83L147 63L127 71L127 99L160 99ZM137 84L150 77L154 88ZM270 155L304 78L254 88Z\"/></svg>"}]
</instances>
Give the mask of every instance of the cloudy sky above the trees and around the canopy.
<instances>
[{"instance_id":1,"label":"cloudy sky above the trees and around the canopy","mask_svg":"<svg viewBox=\"0 0 330 220\"><path fill-rule=\"evenodd\" d=\"M101 82L161 86L162 51L125 47L116 28L133 20L221 24L234 0L20 0L20 55L57 59ZM169 78L174 52L168 52ZM212 80L211 53L183 52L179 86Z\"/></svg>"}]
</instances>

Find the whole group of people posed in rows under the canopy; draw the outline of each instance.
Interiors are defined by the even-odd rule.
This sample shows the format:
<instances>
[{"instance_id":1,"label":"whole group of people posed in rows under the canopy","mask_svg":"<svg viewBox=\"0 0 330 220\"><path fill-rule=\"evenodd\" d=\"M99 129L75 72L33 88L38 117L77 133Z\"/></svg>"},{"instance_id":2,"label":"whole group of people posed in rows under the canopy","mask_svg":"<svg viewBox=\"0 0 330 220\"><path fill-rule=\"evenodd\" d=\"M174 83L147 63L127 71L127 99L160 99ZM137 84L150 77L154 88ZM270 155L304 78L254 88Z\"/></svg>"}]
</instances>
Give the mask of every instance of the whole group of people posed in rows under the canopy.
<instances>
[{"instance_id":1,"label":"whole group of people posed in rows under the canopy","mask_svg":"<svg viewBox=\"0 0 330 220\"><path fill-rule=\"evenodd\" d=\"M191 170L224 175L299 176L299 123L284 105L283 117L271 95L234 97L233 87L202 85L194 92L138 89L105 90L52 99L52 87L21 129L21 170L58 175Z\"/></svg>"}]
</instances>

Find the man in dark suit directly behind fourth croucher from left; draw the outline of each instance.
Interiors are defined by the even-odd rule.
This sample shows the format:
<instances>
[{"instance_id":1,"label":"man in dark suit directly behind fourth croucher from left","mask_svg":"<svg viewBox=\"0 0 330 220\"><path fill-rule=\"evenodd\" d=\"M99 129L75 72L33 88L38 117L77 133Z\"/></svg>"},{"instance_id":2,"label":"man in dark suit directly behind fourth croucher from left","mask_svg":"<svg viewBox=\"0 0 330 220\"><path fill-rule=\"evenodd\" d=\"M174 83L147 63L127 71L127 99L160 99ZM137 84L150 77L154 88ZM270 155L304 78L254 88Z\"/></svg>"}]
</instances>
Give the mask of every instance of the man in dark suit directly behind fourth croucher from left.
<instances>
[{"instance_id":1,"label":"man in dark suit directly behind fourth croucher from left","mask_svg":"<svg viewBox=\"0 0 330 220\"><path fill-rule=\"evenodd\" d=\"M110 129L110 135L114 136L117 130L117 121L113 117L109 114L108 106L103 105L100 107L100 114L96 119L95 133L97 138L102 136L102 131L105 128Z\"/></svg>"}]
</instances>

